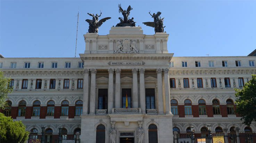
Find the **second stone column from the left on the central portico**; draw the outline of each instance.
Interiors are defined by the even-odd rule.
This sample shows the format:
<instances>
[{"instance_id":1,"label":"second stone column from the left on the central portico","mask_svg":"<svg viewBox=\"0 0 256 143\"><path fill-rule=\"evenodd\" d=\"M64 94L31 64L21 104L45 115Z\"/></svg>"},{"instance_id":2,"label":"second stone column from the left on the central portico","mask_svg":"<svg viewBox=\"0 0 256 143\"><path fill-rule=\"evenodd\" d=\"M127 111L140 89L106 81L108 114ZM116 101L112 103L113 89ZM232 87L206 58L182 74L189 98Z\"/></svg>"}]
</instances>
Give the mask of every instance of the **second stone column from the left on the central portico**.
<instances>
[{"instance_id":1,"label":"second stone column from the left on the central portico","mask_svg":"<svg viewBox=\"0 0 256 143\"><path fill-rule=\"evenodd\" d=\"M90 114L95 114L95 100L96 100L96 69L91 71L91 89L90 89Z\"/></svg>"}]
</instances>

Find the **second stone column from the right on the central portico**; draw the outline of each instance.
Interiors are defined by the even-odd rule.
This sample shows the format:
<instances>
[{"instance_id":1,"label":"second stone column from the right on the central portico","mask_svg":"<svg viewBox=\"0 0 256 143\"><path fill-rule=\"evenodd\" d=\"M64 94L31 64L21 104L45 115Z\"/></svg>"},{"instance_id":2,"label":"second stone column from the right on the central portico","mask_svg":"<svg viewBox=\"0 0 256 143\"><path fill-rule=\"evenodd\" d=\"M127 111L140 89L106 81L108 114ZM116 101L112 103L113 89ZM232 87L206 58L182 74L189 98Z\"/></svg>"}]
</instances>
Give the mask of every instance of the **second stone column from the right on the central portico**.
<instances>
[{"instance_id":1,"label":"second stone column from the right on the central portico","mask_svg":"<svg viewBox=\"0 0 256 143\"><path fill-rule=\"evenodd\" d=\"M158 114L164 114L162 69L157 69Z\"/></svg>"}]
</instances>

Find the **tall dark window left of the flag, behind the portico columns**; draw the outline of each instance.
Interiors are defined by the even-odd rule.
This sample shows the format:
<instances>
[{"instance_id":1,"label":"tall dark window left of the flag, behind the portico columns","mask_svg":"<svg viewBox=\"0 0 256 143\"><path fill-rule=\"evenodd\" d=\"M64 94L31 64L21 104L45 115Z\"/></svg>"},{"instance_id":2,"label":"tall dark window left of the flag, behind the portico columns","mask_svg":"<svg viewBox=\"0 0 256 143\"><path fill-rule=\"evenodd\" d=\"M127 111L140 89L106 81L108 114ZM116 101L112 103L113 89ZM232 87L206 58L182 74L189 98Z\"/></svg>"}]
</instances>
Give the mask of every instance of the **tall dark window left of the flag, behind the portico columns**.
<instances>
[{"instance_id":1,"label":"tall dark window left of the flag, behind the portico columns","mask_svg":"<svg viewBox=\"0 0 256 143\"><path fill-rule=\"evenodd\" d=\"M98 109L108 108L108 89L98 90Z\"/></svg>"}]
</instances>

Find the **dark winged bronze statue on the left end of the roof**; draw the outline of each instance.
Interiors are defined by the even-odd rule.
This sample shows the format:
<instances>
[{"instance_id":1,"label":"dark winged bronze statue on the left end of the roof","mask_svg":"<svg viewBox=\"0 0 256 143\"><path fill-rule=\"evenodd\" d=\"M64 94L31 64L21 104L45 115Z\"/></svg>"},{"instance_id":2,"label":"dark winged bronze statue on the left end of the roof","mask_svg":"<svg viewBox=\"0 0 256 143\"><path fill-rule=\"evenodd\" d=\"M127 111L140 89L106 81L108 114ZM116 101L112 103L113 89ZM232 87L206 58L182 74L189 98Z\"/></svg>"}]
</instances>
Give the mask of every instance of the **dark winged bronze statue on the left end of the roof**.
<instances>
[{"instance_id":1,"label":"dark winged bronze statue on the left end of the roof","mask_svg":"<svg viewBox=\"0 0 256 143\"><path fill-rule=\"evenodd\" d=\"M100 15L96 14L89 14L88 15L92 16L92 20L90 19L86 19L85 21L89 23L89 29L88 29L88 33L98 33L98 29L99 27L108 19L110 19L111 17L105 17L99 20L99 17L101 16L101 12Z\"/></svg>"}]
</instances>

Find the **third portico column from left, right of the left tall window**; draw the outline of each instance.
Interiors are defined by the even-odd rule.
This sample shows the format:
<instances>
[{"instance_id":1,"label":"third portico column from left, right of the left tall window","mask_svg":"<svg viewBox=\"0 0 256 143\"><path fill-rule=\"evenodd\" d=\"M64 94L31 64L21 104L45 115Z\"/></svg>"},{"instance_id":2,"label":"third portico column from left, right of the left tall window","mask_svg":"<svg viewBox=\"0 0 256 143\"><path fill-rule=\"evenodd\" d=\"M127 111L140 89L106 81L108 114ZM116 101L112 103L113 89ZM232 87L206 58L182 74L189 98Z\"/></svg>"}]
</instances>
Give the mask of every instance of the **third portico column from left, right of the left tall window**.
<instances>
[{"instance_id":1,"label":"third portico column from left, right of the left tall window","mask_svg":"<svg viewBox=\"0 0 256 143\"><path fill-rule=\"evenodd\" d=\"M108 69L108 114L113 108L114 99L114 69Z\"/></svg>"}]
</instances>

